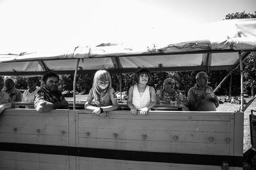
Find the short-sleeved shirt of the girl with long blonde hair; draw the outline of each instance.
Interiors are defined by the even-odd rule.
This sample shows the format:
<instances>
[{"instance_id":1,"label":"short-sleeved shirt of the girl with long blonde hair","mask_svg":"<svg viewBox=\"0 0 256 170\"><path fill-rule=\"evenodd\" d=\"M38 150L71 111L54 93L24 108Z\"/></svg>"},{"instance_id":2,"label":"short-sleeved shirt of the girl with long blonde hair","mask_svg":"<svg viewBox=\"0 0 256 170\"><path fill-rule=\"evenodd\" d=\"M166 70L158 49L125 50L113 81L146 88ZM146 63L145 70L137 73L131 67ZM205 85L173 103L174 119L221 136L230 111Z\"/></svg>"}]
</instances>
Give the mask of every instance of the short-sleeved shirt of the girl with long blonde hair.
<instances>
[{"instance_id":1,"label":"short-sleeved shirt of the girl with long blonde hair","mask_svg":"<svg viewBox=\"0 0 256 170\"><path fill-rule=\"evenodd\" d=\"M90 89L88 99L93 100L93 91L92 91L92 89ZM115 93L115 90L113 88L110 88L109 93L105 97L100 96L99 107L113 105L112 101L114 101L114 100L117 100L116 93Z\"/></svg>"}]
</instances>

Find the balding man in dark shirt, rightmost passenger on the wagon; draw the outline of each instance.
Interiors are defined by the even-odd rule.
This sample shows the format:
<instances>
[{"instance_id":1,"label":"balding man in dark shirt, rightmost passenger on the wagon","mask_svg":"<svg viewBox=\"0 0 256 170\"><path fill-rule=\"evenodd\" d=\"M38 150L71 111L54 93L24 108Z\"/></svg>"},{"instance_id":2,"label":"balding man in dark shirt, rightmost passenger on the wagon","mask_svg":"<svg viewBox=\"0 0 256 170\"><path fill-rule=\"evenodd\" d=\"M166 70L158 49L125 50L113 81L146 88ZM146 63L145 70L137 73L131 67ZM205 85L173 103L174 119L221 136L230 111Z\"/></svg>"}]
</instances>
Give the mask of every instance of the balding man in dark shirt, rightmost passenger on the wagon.
<instances>
[{"instance_id":1,"label":"balding man in dark shirt, rightmost passenger on the wagon","mask_svg":"<svg viewBox=\"0 0 256 170\"><path fill-rule=\"evenodd\" d=\"M216 111L218 97L208 84L205 72L196 74L196 85L188 91L188 106L191 111Z\"/></svg>"}]
</instances>

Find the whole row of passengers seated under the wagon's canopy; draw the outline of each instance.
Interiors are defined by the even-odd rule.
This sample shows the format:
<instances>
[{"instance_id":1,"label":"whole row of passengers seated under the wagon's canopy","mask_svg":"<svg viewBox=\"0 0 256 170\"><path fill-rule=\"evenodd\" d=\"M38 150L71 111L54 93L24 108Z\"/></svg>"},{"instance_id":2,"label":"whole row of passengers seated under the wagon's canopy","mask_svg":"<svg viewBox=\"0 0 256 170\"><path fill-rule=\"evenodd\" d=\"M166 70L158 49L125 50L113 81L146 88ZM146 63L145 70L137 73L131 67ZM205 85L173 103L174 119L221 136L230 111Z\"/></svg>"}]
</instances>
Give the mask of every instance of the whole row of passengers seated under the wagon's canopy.
<instances>
[{"instance_id":1,"label":"whole row of passengers seated under the wagon's canopy","mask_svg":"<svg viewBox=\"0 0 256 170\"><path fill-rule=\"evenodd\" d=\"M59 77L55 73L46 73L42 77L42 85L36 87L38 80L35 77L28 78L28 90L23 95L14 88L12 79L0 77L0 113L12 107L12 102L34 102L34 108L38 112L47 112L52 109L68 109L68 102L58 90ZM157 92L152 86L151 73L146 68L141 68L134 75L134 85L129 88L127 106L131 114L146 115L152 107L159 105L184 105L190 111L216 111L218 98L211 87L207 86L208 77L205 72L196 74L196 84L188 91L188 98L184 97L178 89L175 89L175 81L167 78L163 82L163 89ZM5 84L5 91L3 86ZM29 108L29 107L27 107ZM108 111L118 109L115 90L111 86L111 76L107 70L98 70L93 78L84 109L92 111L99 116L108 115Z\"/></svg>"}]
</instances>

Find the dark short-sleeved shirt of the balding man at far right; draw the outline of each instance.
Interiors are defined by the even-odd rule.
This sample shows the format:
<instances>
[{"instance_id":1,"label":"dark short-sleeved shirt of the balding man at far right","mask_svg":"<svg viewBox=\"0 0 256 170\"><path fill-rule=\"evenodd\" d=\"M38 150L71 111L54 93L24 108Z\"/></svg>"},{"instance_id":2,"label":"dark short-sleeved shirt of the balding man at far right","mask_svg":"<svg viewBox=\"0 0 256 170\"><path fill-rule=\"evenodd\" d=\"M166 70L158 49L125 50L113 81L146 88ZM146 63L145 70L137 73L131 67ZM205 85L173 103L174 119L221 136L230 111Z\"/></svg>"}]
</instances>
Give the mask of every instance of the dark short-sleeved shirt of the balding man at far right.
<instances>
[{"instance_id":1,"label":"dark short-sleeved shirt of the balding man at far right","mask_svg":"<svg viewBox=\"0 0 256 170\"><path fill-rule=\"evenodd\" d=\"M188 104L196 102L196 98L198 98L203 93L210 93L212 97L216 97L214 91L210 86L206 86L205 91L198 88L196 85L189 89L188 91ZM198 107L195 111L216 111L216 105L209 98L204 98L198 104Z\"/></svg>"}]
</instances>

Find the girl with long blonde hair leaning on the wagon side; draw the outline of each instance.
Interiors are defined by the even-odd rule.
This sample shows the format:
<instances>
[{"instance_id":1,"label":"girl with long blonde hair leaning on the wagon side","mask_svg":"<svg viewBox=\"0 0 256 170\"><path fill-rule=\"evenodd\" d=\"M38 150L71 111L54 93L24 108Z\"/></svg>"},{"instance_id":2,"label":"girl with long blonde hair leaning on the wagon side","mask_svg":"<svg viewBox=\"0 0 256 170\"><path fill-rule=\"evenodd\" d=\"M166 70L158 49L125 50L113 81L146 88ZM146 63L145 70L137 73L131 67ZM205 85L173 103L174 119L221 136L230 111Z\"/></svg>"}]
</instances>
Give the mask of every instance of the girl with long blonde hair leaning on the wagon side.
<instances>
[{"instance_id":1,"label":"girl with long blonde hair leaning on the wagon side","mask_svg":"<svg viewBox=\"0 0 256 170\"><path fill-rule=\"evenodd\" d=\"M93 99L94 104L92 104ZM99 116L107 116L106 111L118 109L115 90L111 86L111 76L107 70L98 70L95 73L84 109Z\"/></svg>"}]
</instances>

